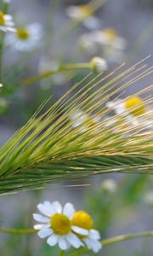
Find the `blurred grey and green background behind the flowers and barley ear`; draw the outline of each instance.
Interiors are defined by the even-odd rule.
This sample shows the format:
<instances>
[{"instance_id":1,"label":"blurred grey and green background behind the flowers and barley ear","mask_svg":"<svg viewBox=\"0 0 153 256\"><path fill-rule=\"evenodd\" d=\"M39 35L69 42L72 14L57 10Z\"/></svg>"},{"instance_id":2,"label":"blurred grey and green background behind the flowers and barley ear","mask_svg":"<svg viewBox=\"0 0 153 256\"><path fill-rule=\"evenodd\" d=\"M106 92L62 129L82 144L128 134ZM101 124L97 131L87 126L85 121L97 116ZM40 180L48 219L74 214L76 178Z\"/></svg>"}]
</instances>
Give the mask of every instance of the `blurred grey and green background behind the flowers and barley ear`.
<instances>
[{"instance_id":1,"label":"blurred grey and green background behind the flowers and barley ear","mask_svg":"<svg viewBox=\"0 0 153 256\"><path fill-rule=\"evenodd\" d=\"M104 4L103 4L104 2ZM18 83L31 75L54 68L56 63L77 63L90 61L95 54L82 51L78 45L82 34L90 32L82 23L75 24L67 15L68 6L89 1L58 0L14 0L10 12L15 23L24 26L33 22L42 24L43 37L39 49L31 53L7 49L4 55L7 90L3 98L7 108L0 116L0 144L3 145L14 131L26 123L37 107L53 95L51 104L62 96L71 85L79 81L89 70L61 73L37 83L10 88L11 81ZM99 0L100 3L100 0ZM95 12L100 21L99 29L111 27L127 46L121 61L108 61L108 71L122 61L128 65L153 54L153 1L152 0L108 0L101 1ZM74 26L75 25L75 26ZM101 51L96 55L103 57ZM152 58L147 61L149 64ZM47 68L48 68L47 67ZM127 95L151 84L150 77L130 87ZM52 102L53 101L53 102ZM104 189L105 179L111 178L115 189ZM37 191L23 191L0 197L0 222L5 227L28 228L34 224L31 214L36 212L40 201L71 201L76 208L85 209L95 219L103 239L128 232L153 229L152 177L132 174L109 174L89 177L71 183L51 184ZM149 194L150 193L150 194ZM152 193L152 194L151 194ZM152 195L152 197L151 197ZM148 197L147 197L148 196ZM0 254L6 256L55 255L56 248L48 247L36 235L0 235ZM124 241L104 247L99 255L107 256L152 256L152 238L138 241ZM89 255L89 253L88 253ZM91 255L93 255L91 253Z\"/></svg>"}]
</instances>

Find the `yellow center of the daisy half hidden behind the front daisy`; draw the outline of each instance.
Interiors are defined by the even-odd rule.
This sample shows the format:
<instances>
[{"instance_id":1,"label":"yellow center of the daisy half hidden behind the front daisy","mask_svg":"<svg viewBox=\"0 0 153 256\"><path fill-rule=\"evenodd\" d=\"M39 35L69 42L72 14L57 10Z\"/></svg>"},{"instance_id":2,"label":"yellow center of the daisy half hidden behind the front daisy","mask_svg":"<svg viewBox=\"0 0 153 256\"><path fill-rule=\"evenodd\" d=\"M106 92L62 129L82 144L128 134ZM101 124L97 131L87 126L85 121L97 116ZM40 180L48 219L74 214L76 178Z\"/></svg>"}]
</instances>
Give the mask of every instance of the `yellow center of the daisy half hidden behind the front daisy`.
<instances>
[{"instance_id":1,"label":"yellow center of the daisy half hidden behind the front daisy","mask_svg":"<svg viewBox=\"0 0 153 256\"><path fill-rule=\"evenodd\" d=\"M93 218L84 211L75 212L71 220L71 224L80 227L85 230L91 230L93 227ZM86 237L82 235L77 235L80 238Z\"/></svg>"}]
</instances>

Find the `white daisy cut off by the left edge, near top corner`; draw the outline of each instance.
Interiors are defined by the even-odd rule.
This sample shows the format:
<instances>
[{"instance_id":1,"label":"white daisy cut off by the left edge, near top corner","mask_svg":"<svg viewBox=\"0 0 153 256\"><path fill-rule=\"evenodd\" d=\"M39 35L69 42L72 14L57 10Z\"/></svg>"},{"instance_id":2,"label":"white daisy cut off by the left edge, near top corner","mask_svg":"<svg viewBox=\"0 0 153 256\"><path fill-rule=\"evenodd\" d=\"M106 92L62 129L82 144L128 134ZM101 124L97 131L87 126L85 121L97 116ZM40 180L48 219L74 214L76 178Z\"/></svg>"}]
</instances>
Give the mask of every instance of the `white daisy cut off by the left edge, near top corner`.
<instances>
[{"instance_id":1,"label":"white daisy cut off by the left edge, near top corner","mask_svg":"<svg viewBox=\"0 0 153 256\"><path fill-rule=\"evenodd\" d=\"M0 10L0 30L3 32L14 32L14 21L11 15L3 14Z\"/></svg>"}]
</instances>

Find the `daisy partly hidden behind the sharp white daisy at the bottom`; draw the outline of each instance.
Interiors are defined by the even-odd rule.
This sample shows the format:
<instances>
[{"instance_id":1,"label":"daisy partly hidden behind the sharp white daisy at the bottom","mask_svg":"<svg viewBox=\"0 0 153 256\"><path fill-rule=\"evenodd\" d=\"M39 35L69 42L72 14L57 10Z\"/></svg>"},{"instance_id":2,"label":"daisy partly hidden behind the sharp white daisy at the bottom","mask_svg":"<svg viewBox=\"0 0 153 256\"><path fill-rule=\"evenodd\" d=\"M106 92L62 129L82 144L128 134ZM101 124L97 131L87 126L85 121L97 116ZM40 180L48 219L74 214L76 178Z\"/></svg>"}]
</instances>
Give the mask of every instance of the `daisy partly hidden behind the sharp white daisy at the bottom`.
<instances>
[{"instance_id":1,"label":"daisy partly hidden behind the sharp white daisy at the bottom","mask_svg":"<svg viewBox=\"0 0 153 256\"><path fill-rule=\"evenodd\" d=\"M88 231L88 235L80 236L77 235L82 239L83 243L88 247L89 250L93 250L94 253L98 253L99 250L102 248L102 244L100 243L99 239L99 231L93 229L93 218L88 214L88 212L78 211L75 212L72 218L71 223L75 226ZM77 234L77 229L75 230Z\"/></svg>"}]
</instances>

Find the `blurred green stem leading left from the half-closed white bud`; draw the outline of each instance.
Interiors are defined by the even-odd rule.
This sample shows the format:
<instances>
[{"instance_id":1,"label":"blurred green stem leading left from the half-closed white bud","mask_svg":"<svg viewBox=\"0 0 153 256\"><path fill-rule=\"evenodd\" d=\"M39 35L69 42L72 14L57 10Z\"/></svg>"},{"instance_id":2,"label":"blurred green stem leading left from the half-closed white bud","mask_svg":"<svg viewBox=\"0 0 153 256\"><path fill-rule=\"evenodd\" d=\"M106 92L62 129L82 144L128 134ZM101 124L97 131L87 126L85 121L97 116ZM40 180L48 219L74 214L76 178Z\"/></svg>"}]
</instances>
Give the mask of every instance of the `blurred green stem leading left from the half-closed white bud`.
<instances>
[{"instance_id":1,"label":"blurred green stem leading left from the half-closed white bud","mask_svg":"<svg viewBox=\"0 0 153 256\"><path fill-rule=\"evenodd\" d=\"M28 84L32 84L35 83L41 79L47 79L49 76L52 76L56 73L61 73L61 72L65 72L65 71L71 71L74 69L82 69L82 68L89 68L90 67L90 63L77 63L77 64L65 64L65 65L61 65L60 67L58 67L55 70L48 70L45 71L43 73L31 76L28 79L25 79L23 81L21 81L19 84L17 84L17 87L20 87L22 85L28 85Z\"/></svg>"}]
</instances>

